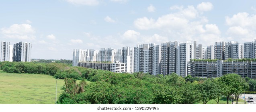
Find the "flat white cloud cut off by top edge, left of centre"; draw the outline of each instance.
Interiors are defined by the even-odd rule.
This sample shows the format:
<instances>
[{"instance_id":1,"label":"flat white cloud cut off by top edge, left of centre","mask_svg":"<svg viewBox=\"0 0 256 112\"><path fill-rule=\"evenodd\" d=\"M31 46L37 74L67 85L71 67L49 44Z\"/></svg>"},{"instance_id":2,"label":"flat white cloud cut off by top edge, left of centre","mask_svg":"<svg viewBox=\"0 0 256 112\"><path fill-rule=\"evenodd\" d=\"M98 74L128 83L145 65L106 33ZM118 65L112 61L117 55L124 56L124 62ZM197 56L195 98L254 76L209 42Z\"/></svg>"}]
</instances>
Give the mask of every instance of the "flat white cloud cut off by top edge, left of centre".
<instances>
[{"instance_id":1,"label":"flat white cloud cut off by top edge, left of centre","mask_svg":"<svg viewBox=\"0 0 256 112\"><path fill-rule=\"evenodd\" d=\"M98 0L66 0L66 1L75 5L96 6L99 4Z\"/></svg>"}]
</instances>

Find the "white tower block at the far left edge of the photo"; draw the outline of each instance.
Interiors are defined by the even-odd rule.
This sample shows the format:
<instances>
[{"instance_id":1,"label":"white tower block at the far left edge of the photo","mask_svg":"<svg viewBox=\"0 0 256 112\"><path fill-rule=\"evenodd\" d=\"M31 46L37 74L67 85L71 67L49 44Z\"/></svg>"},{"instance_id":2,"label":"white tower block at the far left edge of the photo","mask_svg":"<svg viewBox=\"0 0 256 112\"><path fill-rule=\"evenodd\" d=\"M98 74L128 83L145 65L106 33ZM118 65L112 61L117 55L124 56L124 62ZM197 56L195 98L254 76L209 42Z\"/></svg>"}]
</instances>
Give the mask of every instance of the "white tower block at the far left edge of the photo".
<instances>
[{"instance_id":1,"label":"white tower block at the far left edge of the photo","mask_svg":"<svg viewBox=\"0 0 256 112\"><path fill-rule=\"evenodd\" d=\"M12 61L12 49L10 48L10 46L10 42L1 42L0 62Z\"/></svg>"}]
</instances>

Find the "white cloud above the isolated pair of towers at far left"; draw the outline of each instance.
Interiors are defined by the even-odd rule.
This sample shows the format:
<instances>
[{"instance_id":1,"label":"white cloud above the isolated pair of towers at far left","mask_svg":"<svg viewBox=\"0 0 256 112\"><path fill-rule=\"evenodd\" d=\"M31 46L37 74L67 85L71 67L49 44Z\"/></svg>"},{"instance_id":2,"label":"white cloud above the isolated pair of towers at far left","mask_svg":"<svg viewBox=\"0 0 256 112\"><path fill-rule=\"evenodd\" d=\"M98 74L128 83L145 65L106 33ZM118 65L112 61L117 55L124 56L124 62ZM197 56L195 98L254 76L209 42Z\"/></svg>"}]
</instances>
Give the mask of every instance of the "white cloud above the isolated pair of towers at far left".
<instances>
[{"instance_id":1,"label":"white cloud above the isolated pair of towers at far left","mask_svg":"<svg viewBox=\"0 0 256 112\"><path fill-rule=\"evenodd\" d=\"M2 34L6 38L16 38L21 40L34 40L35 30L29 24L13 24L9 28L1 28Z\"/></svg>"}]
</instances>

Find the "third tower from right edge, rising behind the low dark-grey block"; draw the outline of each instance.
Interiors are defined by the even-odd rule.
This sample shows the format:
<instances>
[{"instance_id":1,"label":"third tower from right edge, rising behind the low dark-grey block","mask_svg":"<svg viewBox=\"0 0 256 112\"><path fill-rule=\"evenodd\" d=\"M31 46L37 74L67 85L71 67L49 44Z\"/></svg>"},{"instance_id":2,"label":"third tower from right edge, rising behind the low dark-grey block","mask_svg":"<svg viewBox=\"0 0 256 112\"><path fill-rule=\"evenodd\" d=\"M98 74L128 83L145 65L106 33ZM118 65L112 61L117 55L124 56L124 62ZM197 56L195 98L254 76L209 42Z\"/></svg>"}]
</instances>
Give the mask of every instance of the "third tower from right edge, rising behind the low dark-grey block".
<instances>
[{"instance_id":1,"label":"third tower from right edge, rising behind the low dark-grey block","mask_svg":"<svg viewBox=\"0 0 256 112\"><path fill-rule=\"evenodd\" d=\"M225 43L224 42L215 42L214 59L225 60Z\"/></svg>"}]
</instances>

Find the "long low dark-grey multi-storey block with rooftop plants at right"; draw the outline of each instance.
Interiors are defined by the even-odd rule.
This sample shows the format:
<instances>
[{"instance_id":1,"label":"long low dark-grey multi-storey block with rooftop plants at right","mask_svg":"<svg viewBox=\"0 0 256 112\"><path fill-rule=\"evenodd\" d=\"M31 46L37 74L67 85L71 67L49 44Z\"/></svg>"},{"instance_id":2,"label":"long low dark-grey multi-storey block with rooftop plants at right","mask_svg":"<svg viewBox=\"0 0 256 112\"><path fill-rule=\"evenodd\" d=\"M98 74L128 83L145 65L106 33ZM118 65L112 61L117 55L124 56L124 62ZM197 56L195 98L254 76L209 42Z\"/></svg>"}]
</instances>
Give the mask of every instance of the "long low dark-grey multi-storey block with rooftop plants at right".
<instances>
[{"instance_id":1,"label":"long low dark-grey multi-storey block with rooftop plants at right","mask_svg":"<svg viewBox=\"0 0 256 112\"><path fill-rule=\"evenodd\" d=\"M241 77L256 78L256 62L213 61L188 62L188 74L193 77L216 78L225 74L238 74Z\"/></svg>"}]
</instances>

